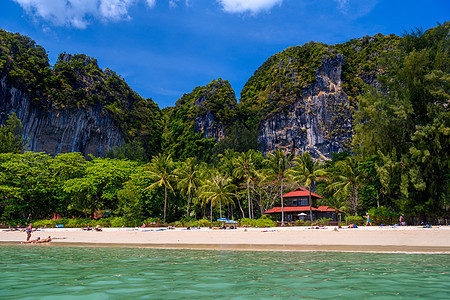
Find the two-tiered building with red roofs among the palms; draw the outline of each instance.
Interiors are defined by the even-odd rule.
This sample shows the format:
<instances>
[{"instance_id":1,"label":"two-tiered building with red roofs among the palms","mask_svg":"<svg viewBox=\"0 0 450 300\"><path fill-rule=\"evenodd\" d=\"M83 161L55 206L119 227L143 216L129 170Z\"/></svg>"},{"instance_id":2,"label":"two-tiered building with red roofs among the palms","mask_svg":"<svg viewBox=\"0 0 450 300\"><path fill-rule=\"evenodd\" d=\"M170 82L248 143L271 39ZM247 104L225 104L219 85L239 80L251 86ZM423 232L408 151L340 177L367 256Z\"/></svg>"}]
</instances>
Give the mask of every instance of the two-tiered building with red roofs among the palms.
<instances>
[{"instance_id":1,"label":"two-tiered building with red roofs among the palms","mask_svg":"<svg viewBox=\"0 0 450 300\"><path fill-rule=\"evenodd\" d=\"M309 220L309 191L305 188L298 188L292 192L286 193L283 195L283 199L285 200L286 206L284 206L284 217L287 222L293 222L296 220ZM313 215L313 220L322 219L322 218L331 218L336 220L336 214L338 212L334 208L329 206L314 206L314 203L318 199L323 199L321 196L311 193L311 211ZM264 214L280 214L281 216L281 207L273 207L264 212Z\"/></svg>"}]
</instances>

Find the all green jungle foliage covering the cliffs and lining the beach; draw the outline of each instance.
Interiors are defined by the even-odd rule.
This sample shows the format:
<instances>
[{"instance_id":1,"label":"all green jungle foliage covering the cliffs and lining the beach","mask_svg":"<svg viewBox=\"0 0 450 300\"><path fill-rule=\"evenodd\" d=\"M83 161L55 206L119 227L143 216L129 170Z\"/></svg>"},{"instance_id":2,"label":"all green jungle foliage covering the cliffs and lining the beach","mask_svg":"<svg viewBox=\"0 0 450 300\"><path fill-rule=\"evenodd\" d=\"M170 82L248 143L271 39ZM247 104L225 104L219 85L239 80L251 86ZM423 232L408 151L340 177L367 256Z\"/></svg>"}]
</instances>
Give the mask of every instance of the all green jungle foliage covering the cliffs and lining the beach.
<instances>
[{"instance_id":1,"label":"all green jungle foliage covering the cliffs and lining the beach","mask_svg":"<svg viewBox=\"0 0 450 300\"><path fill-rule=\"evenodd\" d=\"M10 116L0 129L0 142L5 144L0 149L6 149L0 151L4 152L0 154L1 218L25 223L54 214L92 218L99 211L111 210L113 217L127 224L147 218L167 222L219 217L253 220L280 206L281 195L298 186L324 197L313 204L340 209L347 216L357 216L355 220L369 211L371 217L393 222L403 213L409 224L448 218L449 29L447 22L426 32L413 30L401 38L377 35L335 46L310 43L289 48L255 72L239 104L229 83L217 80L184 95L173 108L160 112L155 106L152 122L158 116L161 122L150 127L155 131L164 128L164 133L160 144L152 140L155 149L162 144L162 149L153 152L140 150L146 147L145 139L142 143L131 139L112 154L114 159L86 159L78 153L55 157L22 153L23 148L17 146L21 125ZM25 49L30 40L18 36L18 41L10 43ZM45 69L45 52L39 52L42 49L33 43L27 47L31 49L28 55L40 53ZM36 101L50 99L41 97L49 93L47 77L35 77L37 85L28 87L39 70L27 66L26 55L17 58L5 53L2 50L2 76L13 80L22 64L18 82L36 95ZM294 158L277 150L265 157L254 150L258 143L252 137L260 118L284 110L292 97L315 80L323 59L338 54L344 55L344 89L355 108L351 151L334 153L329 161L314 161L308 153ZM45 72L65 74L66 60L62 55L54 69ZM70 61L73 70L96 66L92 59L81 56ZM299 61L306 66L296 65ZM104 73L102 76L107 76ZM56 77L60 82L71 80L67 75ZM89 105L89 101L80 103ZM117 102L109 110L126 115L125 100L106 97L98 101L107 106ZM69 102L64 105L70 106ZM219 143L196 131L196 120L210 112L216 126L223 126L227 134ZM139 124L141 129L148 126L144 121ZM244 140L249 141L246 148L239 148ZM145 155L151 160L139 159Z\"/></svg>"}]
</instances>

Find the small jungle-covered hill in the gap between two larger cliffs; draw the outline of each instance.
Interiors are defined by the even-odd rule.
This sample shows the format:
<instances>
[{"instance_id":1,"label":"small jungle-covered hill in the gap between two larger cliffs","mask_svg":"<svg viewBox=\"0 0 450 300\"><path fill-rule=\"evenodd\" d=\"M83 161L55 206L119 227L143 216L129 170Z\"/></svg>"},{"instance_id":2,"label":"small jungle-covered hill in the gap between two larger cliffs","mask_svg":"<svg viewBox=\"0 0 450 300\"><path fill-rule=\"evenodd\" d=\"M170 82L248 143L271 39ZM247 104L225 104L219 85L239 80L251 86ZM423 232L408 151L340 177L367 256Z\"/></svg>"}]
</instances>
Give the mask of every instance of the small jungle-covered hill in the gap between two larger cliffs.
<instances>
[{"instance_id":1,"label":"small jungle-covered hill in the gap between two larger cliffs","mask_svg":"<svg viewBox=\"0 0 450 300\"><path fill-rule=\"evenodd\" d=\"M175 107L163 110L165 130L163 148L173 157L195 156L211 161L214 146L220 136L236 120L236 95L228 81L218 79L204 87L184 94ZM202 122L208 122L202 124ZM208 127L208 135L204 132Z\"/></svg>"}]
</instances>

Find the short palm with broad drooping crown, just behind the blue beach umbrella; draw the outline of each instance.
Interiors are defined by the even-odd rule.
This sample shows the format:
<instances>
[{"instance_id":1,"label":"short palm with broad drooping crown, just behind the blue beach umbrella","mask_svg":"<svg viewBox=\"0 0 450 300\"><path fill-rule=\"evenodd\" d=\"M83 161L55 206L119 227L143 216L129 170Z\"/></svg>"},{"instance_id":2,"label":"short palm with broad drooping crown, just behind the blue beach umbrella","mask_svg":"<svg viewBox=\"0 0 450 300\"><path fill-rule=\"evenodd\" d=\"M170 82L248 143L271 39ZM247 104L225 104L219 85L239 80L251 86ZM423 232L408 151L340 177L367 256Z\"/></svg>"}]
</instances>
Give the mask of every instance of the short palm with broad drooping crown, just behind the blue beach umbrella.
<instances>
[{"instance_id":1,"label":"short palm with broad drooping crown, just behind the blue beach umbrella","mask_svg":"<svg viewBox=\"0 0 450 300\"><path fill-rule=\"evenodd\" d=\"M220 217L222 218L222 204L232 204L234 206L233 197L236 196L233 191L236 186L231 183L231 179L217 173L207 180L202 187L201 195L205 198L205 202L211 203L211 222L212 208L219 203Z\"/></svg>"}]
</instances>

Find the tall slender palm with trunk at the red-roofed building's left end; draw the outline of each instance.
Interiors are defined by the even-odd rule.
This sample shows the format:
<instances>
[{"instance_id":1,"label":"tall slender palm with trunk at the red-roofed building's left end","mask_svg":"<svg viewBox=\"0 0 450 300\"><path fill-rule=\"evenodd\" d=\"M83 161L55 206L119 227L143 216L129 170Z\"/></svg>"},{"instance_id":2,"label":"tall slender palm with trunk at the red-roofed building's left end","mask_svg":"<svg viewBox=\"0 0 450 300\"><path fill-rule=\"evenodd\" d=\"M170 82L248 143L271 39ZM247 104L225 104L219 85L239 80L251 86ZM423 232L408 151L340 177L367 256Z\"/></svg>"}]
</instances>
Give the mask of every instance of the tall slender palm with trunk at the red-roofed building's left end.
<instances>
[{"instance_id":1,"label":"tall slender palm with trunk at the red-roofed building's left end","mask_svg":"<svg viewBox=\"0 0 450 300\"><path fill-rule=\"evenodd\" d=\"M269 153L267 158L268 168L266 172L269 177L280 182L281 197L281 224L284 224L284 203L283 203L283 184L286 179L286 172L291 166L291 160L294 154L285 154L283 150L278 149L273 153Z\"/></svg>"}]
</instances>

